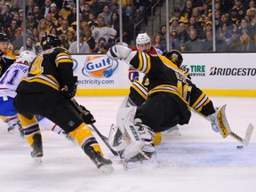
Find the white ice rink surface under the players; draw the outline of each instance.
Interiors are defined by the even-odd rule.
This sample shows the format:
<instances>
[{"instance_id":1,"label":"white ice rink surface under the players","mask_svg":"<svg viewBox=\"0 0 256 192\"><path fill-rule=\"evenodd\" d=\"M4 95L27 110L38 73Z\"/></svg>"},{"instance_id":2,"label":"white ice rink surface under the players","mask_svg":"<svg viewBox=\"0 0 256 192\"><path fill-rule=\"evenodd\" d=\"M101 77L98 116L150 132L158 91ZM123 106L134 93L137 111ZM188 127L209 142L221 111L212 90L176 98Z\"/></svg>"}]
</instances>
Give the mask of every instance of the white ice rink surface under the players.
<instances>
[{"instance_id":1,"label":"white ice rink surface under the players","mask_svg":"<svg viewBox=\"0 0 256 192\"><path fill-rule=\"evenodd\" d=\"M100 132L108 136L124 97L77 97L90 109ZM215 106L228 104L226 114L233 132L244 138L249 123L256 125L256 98L212 97ZM34 103L31 103L34 104ZM36 103L35 103L36 104ZM42 130L43 163L30 157L30 147L18 132L9 134L0 122L0 191L19 192L255 192L256 130L249 146L212 131L211 124L193 114L181 136L163 135L156 147L157 167L124 171L100 138L115 171L102 174L81 148L49 130ZM255 128L256 129L256 128Z\"/></svg>"}]
</instances>

